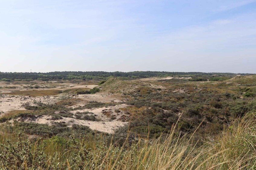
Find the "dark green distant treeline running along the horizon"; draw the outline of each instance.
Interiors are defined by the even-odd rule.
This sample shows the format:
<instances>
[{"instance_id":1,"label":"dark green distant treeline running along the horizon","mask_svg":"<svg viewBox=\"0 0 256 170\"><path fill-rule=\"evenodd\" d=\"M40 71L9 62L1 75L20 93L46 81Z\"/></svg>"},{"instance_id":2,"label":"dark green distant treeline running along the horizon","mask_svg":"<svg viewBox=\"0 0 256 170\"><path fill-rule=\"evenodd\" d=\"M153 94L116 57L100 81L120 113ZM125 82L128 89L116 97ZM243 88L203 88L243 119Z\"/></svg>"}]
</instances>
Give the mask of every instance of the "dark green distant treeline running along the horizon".
<instances>
[{"instance_id":1,"label":"dark green distant treeline running along the horizon","mask_svg":"<svg viewBox=\"0 0 256 170\"><path fill-rule=\"evenodd\" d=\"M0 72L1 81L32 81L32 80L71 80L71 79L106 79L109 76L123 77L127 79L147 78L147 77L164 77L164 76L210 76L225 75L233 76L234 73L201 73L201 72L160 72L160 71L134 71L134 72L104 72L104 71L63 71L49 73L3 73ZM249 74L240 74L249 75Z\"/></svg>"}]
</instances>

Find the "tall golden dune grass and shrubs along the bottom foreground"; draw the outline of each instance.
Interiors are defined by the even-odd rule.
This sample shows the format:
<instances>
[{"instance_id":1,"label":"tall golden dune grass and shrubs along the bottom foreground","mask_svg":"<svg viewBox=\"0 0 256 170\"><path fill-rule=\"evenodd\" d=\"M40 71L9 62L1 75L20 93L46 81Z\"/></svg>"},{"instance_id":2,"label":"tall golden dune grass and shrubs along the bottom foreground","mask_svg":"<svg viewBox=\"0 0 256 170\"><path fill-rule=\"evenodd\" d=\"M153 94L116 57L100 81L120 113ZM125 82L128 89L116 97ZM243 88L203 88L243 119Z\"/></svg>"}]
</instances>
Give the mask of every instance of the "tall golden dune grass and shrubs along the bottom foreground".
<instances>
[{"instance_id":1,"label":"tall golden dune grass and shrubs along the bottom foreground","mask_svg":"<svg viewBox=\"0 0 256 170\"><path fill-rule=\"evenodd\" d=\"M27 141L21 133L3 128L0 169L255 169L255 115L236 119L214 140L206 138L200 145L194 141L196 131L181 136L176 125L165 138L128 144L127 136L122 146L100 135Z\"/></svg>"}]
</instances>

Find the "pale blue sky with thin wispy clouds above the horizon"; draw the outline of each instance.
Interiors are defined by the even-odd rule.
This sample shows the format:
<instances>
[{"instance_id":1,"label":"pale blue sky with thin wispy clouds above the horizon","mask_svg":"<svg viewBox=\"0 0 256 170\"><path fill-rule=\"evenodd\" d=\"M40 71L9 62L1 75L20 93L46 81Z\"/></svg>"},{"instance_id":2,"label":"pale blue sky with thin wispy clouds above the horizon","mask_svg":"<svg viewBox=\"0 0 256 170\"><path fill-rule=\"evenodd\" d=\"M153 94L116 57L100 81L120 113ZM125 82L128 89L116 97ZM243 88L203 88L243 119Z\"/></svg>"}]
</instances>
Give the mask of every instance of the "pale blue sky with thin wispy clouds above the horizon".
<instances>
[{"instance_id":1,"label":"pale blue sky with thin wispy clouds above the horizon","mask_svg":"<svg viewBox=\"0 0 256 170\"><path fill-rule=\"evenodd\" d=\"M1 0L0 72L256 73L256 0Z\"/></svg>"}]
</instances>

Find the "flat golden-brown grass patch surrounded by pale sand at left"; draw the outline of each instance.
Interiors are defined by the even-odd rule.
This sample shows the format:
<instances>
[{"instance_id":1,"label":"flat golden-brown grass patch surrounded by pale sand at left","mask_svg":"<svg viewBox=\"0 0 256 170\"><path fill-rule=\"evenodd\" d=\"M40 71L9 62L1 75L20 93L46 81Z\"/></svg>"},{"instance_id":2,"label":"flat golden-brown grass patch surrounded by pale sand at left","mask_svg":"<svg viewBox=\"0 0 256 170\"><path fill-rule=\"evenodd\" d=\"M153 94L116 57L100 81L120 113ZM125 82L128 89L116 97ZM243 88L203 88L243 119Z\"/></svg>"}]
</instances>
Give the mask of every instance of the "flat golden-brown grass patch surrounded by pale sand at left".
<instances>
[{"instance_id":1,"label":"flat golden-brown grass patch surrounded by pale sand at left","mask_svg":"<svg viewBox=\"0 0 256 170\"><path fill-rule=\"evenodd\" d=\"M3 94L11 94L11 95L20 95L20 96L51 96L60 94L60 90L24 90L24 91L12 91L10 93Z\"/></svg>"}]
</instances>

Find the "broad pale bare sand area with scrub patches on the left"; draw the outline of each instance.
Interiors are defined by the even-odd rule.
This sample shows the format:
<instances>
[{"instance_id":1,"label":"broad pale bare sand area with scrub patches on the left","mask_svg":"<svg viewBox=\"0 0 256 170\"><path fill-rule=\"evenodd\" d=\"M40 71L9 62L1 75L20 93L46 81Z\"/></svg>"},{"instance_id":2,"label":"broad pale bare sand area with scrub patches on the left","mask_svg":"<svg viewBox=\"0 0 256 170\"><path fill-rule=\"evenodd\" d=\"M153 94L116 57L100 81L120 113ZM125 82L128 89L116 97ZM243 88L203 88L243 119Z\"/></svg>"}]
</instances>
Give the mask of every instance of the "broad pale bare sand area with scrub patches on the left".
<instances>
[{"instance_id":1,"label":"broad pale bare sand area with scrub patches on the left","mask_svg":"<svg viewBox=\"0 0 256 170\"><path fill-rule=\"evenodd\" d=\"M35 106L37 102L44 104L64 104L66 107L84 106L89 101L96 101L102 103L117 103L122 102L124 99L121 95L110 93L96 93L96 94L71 94L76 90L89 90L97 87L98 85L86 82L0 82L0 117L1 116L15 116L19 113L30 113L31 110L26 110L24 105ZM67 91L66 91L67 90ZM68 92L68 93L60 93ZM71 92L71 93L70 93ZM8 93L8 94L3 94ZM116 106L84 109L71 111L73 118L65 118L59 120L52 120L50 115L33 116L33 117L19 117L15 120L22 122L34 122L51 124L52 122L66 122L68 126L73 124L86 125L91 129L112 133L116 128L127 124L129 115L124 111L118 109L127 107L125 104ZM115 112L118 110L118 112ZM88 121L76 119L76 112L92 112L100 121ZM34 113L34 112L33 112ZM57 114L57 113L56 113ZM14 119L9 122L12 123Z\"/></svg>"}]
</instances>

